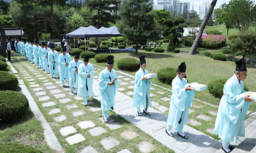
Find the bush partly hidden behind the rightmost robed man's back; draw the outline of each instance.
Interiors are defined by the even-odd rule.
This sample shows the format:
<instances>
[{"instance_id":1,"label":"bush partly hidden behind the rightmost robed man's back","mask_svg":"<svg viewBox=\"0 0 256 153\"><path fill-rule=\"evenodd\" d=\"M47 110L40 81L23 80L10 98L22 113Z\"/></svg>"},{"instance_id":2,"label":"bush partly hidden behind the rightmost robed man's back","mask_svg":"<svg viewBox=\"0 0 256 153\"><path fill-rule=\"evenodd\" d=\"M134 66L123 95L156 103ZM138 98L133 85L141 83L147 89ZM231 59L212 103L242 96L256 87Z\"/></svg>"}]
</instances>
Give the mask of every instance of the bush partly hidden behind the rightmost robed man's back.
<instances>
[{"instance_id":1,"label":"bush partly hidden behind the rightmost robed man's back","mask_svg":"<svg viewBox=\"0 0 256 153\"><path fill-rule=\"evenodd\" d=\"M207 86L208 91L216 98L221 98L223 95L223 88L227 79L211 80Z\"/></svg>"}]
</instances>

